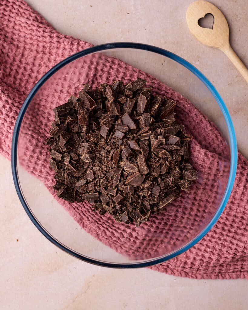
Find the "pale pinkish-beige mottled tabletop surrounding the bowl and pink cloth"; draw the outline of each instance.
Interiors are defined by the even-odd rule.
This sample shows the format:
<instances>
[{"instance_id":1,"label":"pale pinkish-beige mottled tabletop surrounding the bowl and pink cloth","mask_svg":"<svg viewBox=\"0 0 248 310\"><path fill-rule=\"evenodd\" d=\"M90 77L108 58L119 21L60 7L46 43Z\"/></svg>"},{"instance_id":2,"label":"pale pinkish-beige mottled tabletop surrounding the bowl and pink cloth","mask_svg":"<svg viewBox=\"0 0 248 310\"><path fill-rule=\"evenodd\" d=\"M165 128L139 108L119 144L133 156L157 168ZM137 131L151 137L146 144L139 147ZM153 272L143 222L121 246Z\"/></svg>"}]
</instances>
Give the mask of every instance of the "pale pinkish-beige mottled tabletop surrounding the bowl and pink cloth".
<instances>
[{"instance_id":1,"label":"pale pinkish-beige mottled tabletop surrounding the bowl and pink cloth","mask_svg":"<svg viewBox=\"0 0 248 310\"><path fill-rule=\"evenodd\" d=\"M248 157L247 84L221 51L203 46L189 33L185 12L191 0L110 0L108 6L96 0L28 2L63 33L94 44L144 42L194 64L223 96L239 149ZM247 1L212 2L227 17L232 46L248 65ZM0 157L0 166L1 309L247 309L246 280L192 280L149 269L108 269L62 252L26 215L10 162Z\"/></svg>"}]
</instances>

